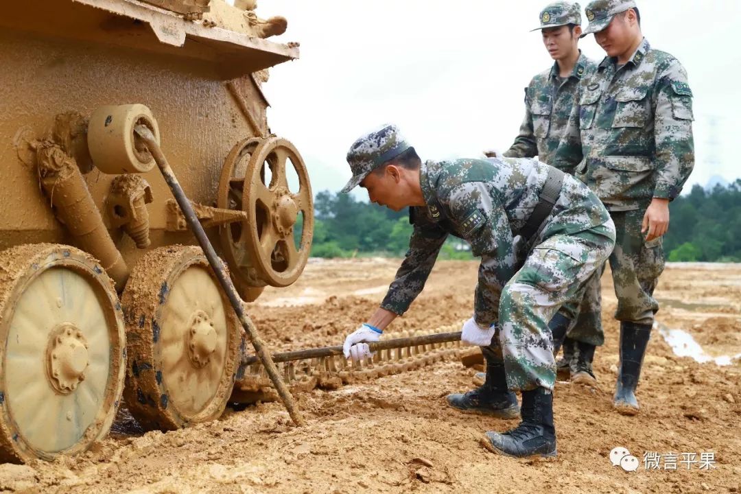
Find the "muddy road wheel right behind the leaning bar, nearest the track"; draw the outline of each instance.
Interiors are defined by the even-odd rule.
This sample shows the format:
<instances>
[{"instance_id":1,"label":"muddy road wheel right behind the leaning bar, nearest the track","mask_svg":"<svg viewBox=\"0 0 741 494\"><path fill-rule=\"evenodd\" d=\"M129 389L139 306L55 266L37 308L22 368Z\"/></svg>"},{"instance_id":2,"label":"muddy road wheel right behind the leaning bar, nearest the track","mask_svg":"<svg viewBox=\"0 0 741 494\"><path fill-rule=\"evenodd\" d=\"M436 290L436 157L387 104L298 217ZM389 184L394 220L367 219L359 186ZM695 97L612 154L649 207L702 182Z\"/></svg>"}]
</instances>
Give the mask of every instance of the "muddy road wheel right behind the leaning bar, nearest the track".
<instances>
[{"instance_id":1,"label":"muddy road wheel right behind the leaning bar, nearest the track","mask_svg":"<svg viewBox=\"0 0 741 494\"><path fill-rule=\"evenodd\" d=\"M124 397L144 427L172 430L224 411L242 330L199 247L160 247L122 296L129 364Z\"/></svg>"}]
</instances>

